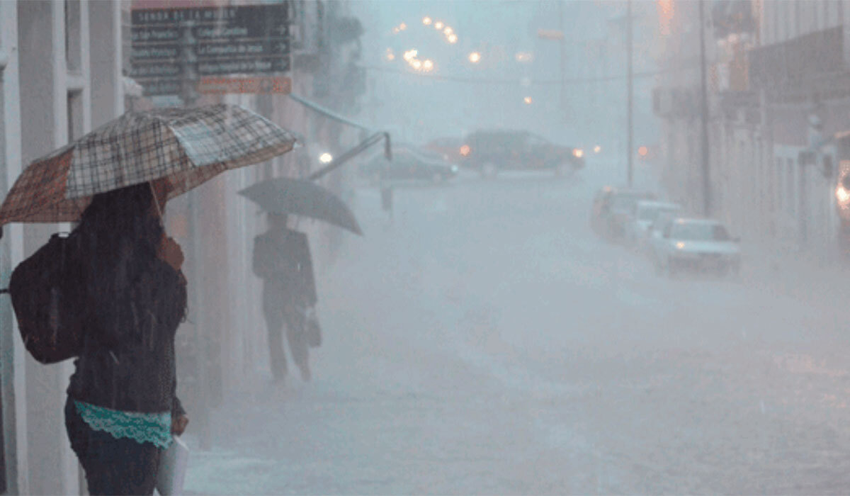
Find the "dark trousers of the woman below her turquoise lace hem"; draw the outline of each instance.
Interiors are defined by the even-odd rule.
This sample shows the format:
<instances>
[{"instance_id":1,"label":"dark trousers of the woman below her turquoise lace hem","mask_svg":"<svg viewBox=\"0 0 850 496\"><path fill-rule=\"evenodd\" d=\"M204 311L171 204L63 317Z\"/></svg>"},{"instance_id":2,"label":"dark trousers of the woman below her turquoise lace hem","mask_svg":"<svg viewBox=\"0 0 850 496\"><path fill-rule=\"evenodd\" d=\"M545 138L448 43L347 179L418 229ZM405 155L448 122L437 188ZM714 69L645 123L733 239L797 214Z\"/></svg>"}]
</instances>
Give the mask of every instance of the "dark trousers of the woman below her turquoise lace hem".
<instances>
[{"instance_id":1,"label":"dark trousers of the woman below her turquoise lace hem","mask_svg":"<svg viewBox=\"0 0 850 496\"><path fill-rule=\"evenodd\" d=\"M93 430L77 413L70 396L65 402L65 428L71 448L86 471L89 493L154 493L160 448Z\"/></svg>"}]
</instances>

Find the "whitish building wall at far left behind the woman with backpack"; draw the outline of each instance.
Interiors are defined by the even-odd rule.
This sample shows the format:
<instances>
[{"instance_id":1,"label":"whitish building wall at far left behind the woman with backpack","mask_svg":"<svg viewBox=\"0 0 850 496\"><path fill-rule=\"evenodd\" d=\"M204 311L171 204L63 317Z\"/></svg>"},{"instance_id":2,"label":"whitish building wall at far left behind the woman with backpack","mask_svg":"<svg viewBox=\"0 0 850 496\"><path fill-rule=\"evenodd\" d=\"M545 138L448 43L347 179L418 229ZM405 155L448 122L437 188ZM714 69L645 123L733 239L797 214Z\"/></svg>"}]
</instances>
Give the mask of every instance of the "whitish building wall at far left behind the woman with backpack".
<instances>
[{"instance_id":1,"label":"whitish building wall at far left behind the woman with backpack","mask_svg":"<svg viewBox=\"0 0 850 496\"><path fill-rule=\"evenodd\" d=\"M120 3L0 1L0 191L22 166L123 111ZM89 36L94 30L94 34ZM106 33L106 34L104 34ZM93 84L95 83L95 84ZM7 225L0 287L14 265L70 225ZM10 494L85 493L65 433L71 362L43 366L26 353L0 298L3 470Z\"/></svg>"}]
</instances>

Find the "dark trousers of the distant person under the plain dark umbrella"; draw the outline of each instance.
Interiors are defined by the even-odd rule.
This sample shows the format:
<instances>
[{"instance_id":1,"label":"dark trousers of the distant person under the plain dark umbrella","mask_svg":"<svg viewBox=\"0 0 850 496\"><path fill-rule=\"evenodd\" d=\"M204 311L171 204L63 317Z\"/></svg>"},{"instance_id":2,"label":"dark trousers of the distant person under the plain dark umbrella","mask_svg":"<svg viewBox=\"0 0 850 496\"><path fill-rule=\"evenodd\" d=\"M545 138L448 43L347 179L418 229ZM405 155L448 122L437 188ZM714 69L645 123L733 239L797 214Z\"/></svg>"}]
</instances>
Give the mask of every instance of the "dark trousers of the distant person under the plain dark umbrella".
<instances>
[{"instance_id":1,"label":"dark trousers of the distant person under the plain dark umbrella","mask_svg":"<svg viewBox=\"0 0 850 496\"><path fill-rule=\"evenodd\" d=\"M286 341L292 360L309 377L309 348L304 326L304 309L301 305L285 304L266 298L263 301L266 328L269 330L269 360L275 379L286 377L286 353L283 351L283 327L286 324Z\"/></svg>"}]
</instances>

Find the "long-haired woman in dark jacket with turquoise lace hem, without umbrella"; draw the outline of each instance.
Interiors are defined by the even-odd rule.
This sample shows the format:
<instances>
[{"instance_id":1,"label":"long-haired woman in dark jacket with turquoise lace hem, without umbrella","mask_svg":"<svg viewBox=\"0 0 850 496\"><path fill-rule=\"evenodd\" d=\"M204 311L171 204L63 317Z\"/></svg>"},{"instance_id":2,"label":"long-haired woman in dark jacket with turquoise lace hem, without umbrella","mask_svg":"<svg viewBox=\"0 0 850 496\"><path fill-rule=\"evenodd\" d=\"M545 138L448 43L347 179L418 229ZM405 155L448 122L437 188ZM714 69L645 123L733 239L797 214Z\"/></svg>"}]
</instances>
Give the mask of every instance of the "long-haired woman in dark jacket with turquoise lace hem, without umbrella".
<instances>
[{"instance_id":1,"label":"long-haired woman in dark jacket with turquoise lace hem, without umbrella","mask_svg":"<svg viewBox=\"0 0 850 496\"><path fill-rule=\"evenodd\" d=\"M75 230L88 329L65 425L92 494L151 494L161 450L189 419L175 395L183 254L150 184L96 195ZM72 234L74 236L74 234Z\"/></svg>"}]
</instances>

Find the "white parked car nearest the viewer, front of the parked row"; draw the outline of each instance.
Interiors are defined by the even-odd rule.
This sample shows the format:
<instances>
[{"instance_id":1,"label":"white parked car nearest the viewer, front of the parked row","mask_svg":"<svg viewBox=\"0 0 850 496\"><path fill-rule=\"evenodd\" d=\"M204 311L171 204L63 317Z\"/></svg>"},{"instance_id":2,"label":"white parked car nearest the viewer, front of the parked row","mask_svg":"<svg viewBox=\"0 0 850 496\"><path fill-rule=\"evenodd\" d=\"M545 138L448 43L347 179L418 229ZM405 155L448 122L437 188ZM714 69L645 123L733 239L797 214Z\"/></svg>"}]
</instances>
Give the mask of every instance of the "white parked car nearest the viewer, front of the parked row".
<instances>
[{"instance_id":1,"label":"white parked car nearest the viewer, front of the parked row","mask_svg":"<svg viewBox=\"0 0 850 496\"><path fill-rule=\"evenodd\" d=\"M713 219L672 219L653 239L653 260L659 273L713 271L740 273L740 240Z\"/></svg>"}]
</instances>

